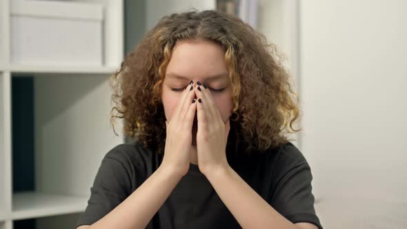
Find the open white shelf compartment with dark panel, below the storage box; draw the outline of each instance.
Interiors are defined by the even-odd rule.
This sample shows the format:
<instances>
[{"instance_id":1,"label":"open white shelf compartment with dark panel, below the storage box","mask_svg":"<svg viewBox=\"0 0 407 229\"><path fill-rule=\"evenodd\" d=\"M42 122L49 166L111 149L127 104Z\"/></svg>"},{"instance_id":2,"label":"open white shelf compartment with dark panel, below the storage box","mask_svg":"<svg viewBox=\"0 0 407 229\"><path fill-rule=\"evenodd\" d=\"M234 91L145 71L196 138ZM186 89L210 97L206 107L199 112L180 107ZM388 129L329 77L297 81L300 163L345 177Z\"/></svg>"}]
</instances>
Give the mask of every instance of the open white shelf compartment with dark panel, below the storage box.
<instances>
[{"instance_id":1,"label":"open white shelf compartment with dark panel, below the storage box","mask_svg":"<svg viewBox=\"0 0 407 229\"><path fill-rule=\"evenodd\" d=\"M51 76L11 77L16 95L12 123L32 122L13 128L13 168L23 170L12 174L12 220L83 211L102 158L123 143L110 126L108 76ZM31 141L31 148L17 147ZM24 180L34 185L18 186L17 181L28 183Z\"/></svg>"}]
</instances>

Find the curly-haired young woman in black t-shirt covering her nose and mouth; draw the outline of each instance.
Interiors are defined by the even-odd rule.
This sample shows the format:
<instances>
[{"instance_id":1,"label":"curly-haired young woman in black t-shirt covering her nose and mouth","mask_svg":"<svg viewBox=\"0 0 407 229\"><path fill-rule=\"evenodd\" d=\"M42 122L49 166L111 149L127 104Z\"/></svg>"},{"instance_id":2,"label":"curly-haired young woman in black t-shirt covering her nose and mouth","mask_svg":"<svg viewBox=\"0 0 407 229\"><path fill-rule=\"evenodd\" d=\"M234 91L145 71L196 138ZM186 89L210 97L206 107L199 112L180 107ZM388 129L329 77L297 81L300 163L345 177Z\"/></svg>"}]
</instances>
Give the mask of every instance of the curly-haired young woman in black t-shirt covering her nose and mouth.
<instances>
[{"instance_id":1,"label":"curly-haired young woman in black t-shirt covering her nose and mouth","mask_svg":"<svg viewBox=\"0 0 407 229\"><path fill-rule=\"evenodd\" d=\"M275 46L212 10L163 17L124 59L108 152L79 228L321 228Z\"/></svg>"}]
</instances>

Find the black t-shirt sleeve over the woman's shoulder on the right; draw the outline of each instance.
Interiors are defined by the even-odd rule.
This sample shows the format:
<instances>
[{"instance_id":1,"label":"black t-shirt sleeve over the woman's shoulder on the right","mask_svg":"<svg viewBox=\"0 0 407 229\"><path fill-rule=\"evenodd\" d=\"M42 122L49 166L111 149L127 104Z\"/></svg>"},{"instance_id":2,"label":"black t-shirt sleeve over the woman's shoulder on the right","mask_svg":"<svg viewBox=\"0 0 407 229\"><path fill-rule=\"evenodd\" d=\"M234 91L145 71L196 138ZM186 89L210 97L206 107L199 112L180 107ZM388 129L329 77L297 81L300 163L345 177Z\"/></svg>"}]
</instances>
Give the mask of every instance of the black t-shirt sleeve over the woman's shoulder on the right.
<instances>
[{"instance_id":1,"label":"black t-shirt sleeve over the woman's shoulder on the right","mask_svg":"<svg viewBox=\"0 0 407 229\"><path fill-rule=\"evenodd\" d=\"M275 168L268 203L291 221L313 223L321 228L315 214L312 174L304 155L292 143L275 151Z\"/></svg>"}]
</instances>

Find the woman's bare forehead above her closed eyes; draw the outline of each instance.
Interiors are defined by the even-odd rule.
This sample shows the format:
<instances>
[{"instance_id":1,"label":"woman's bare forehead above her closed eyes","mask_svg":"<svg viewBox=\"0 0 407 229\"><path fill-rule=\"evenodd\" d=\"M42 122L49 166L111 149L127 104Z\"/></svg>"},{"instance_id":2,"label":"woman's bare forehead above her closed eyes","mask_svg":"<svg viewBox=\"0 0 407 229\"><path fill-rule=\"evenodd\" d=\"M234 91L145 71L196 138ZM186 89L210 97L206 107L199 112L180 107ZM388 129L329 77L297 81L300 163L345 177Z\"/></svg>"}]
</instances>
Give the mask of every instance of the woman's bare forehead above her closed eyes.
<instances>
[{"instance_id":1,"label":"woman's bare forehead above her closed eyes","mask_svg":"<svg viewBox=\"0 0 407 229\"><path fill-rule=\"evenodd\" d=\"M172 50L166 74L206 78L228 72L225 51L217 43L206 40L177 41Z\"/></svg>"}]
</instances>

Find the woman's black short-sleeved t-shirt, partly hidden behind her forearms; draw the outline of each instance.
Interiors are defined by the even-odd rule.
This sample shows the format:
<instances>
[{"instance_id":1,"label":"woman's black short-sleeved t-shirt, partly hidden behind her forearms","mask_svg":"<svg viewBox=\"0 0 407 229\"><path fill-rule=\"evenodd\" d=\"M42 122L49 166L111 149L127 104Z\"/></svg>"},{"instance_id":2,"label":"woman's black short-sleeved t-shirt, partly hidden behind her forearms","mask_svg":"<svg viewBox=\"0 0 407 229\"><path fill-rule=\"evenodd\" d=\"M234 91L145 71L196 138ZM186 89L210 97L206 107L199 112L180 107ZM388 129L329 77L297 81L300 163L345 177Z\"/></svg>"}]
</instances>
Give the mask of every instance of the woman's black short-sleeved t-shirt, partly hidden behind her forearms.
<instances>
[{"instance_id":1,"label":"woman's black short-sleeved t-shirt, partly hidden behind her forearms","mask_svg":"<svg viewBox=\"0 0 407 229\"><path fill-rule=\"evenodd\" d=\"M272 208L292 223L321 223L314 209L310 166L299 150L286 143L264 153L226 153L228 163ZM112 148L97 172L86 211L77 226L95 223L124 201L159 167L163 155L141 143L123 143ZM248 209L250 210L250 209ZM190 164L148 229L241 228L214 188Z\"/></svg>"}]
</instances>

